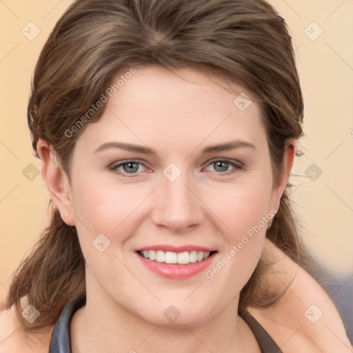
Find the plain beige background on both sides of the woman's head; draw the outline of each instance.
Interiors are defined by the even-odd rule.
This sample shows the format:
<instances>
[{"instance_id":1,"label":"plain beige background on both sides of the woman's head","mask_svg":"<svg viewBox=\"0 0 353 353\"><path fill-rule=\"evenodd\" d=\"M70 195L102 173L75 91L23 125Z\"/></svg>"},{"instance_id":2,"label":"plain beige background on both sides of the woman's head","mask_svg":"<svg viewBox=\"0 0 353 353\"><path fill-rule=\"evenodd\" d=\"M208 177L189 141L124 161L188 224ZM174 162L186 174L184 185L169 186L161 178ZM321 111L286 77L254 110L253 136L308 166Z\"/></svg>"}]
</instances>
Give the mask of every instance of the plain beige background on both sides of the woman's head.
<instances>
[{"instance_id":1,"label":"plain beige background on both sides of the woman's head","mask_svg":"<svg viewBox=\"0 0 353 353\"><path fill-rule=\"evenodd\" d=\"M70 3L0 1L0 297L46 225L49 196L35 174L40 161L32 157L26 108L39 52ZM327 268L353 274L353 1L270 3L292 30L305 98L305 154L293 169L300 177L292 178L301 233ZM21 32L35 34L29 22L40 30L32 41Z\"/></svg>"}]
</instances>

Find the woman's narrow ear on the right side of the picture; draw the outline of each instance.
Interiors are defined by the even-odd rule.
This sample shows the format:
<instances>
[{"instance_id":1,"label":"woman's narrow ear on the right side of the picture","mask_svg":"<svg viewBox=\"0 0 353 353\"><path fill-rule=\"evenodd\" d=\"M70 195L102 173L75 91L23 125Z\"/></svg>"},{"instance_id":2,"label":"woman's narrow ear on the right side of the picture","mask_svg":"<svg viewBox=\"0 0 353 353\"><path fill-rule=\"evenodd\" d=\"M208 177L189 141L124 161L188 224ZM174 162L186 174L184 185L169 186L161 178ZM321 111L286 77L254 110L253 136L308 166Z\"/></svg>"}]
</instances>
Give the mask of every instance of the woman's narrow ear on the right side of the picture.
<instances>
[{"instance_id":1,"label":"woman's narrow ear on the right side of the picture","mask_svg":"<svg viewBox=\"0 0 353 353\"><path fill-rule=\"evenodd\" d=\"M288 180L290 179L290 172L294 163L296 151L296 139L288 139L285 144L285 151L283 154L282 169L279 175L277 185L272 188L271 206L272 209L278 210L281 197L287 188Z\"/></svg>"}]
</instances>

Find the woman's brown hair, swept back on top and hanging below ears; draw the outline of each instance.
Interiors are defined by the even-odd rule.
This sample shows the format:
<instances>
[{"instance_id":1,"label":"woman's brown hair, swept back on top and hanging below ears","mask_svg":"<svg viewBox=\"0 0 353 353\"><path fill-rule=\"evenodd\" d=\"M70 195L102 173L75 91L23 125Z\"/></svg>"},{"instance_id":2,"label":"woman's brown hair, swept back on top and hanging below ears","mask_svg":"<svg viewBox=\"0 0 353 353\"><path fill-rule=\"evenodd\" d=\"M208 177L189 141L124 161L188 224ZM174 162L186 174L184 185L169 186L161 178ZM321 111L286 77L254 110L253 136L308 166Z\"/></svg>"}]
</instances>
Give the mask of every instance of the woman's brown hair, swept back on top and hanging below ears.
<instances>
[{"instance_id":1,"label":"woman's brown hair, swept back on top and hanging below ears","mask_svg":"<svg viewBox=\"0 0 353 353\"><path fill-rule=\"evenodd\" d=\"M303 135L303 97L288 28L262 0L75 1L52 30L32 79L28 125L37 157L37 141L45 139L70 177L70 156L85 127L72 133L72 126L101 99L118 71L151 64L170 70L199 65L243 85L261 106L278 181L286 141ZM85 124L97 121L103 111L104 105ZM6 301L6 308L16 305L28 332L54 325L63 306L85 292L76 228L66 225L50 204L50 225L14 273ZM266 236L303 264L305 252L285 194ZM261 290L268 266L264 253L241 291L240 311L279 298ZM23 296L41 312L30 324L21 316Z\"/></svg>"}]
</instances>

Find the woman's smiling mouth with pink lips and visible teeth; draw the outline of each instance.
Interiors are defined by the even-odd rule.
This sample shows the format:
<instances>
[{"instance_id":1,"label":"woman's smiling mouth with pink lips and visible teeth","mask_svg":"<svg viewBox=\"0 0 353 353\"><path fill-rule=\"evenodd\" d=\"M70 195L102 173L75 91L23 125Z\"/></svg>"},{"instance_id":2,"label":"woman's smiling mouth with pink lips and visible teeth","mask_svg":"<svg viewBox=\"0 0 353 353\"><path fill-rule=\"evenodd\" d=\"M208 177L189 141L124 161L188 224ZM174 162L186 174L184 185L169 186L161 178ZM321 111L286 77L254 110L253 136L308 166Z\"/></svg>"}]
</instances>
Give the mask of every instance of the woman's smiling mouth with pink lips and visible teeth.
<instances>
[{"instance_id":1,"label":"woman's smiling mouth with pink lips and visible teeth","mask_svg":"<svg viewBox=\"0 0 353 353\"><path fill-rule=\"evenodd\" d=\"M187 279L205 271L217 251L202 247L174 248L167 245L136 251L145 268L169 279Z\"/></svg>"}]
</instances>

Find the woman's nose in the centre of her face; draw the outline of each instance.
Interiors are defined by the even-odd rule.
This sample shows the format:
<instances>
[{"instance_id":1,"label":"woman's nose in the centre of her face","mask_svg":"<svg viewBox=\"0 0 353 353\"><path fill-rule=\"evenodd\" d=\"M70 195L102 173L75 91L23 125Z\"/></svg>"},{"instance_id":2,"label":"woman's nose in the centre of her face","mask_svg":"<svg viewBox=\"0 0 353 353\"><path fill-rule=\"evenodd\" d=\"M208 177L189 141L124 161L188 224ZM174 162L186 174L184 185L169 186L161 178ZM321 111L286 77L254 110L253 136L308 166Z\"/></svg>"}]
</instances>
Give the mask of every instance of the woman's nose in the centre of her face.
<instances>
[{"instance_id":1,"label":"woman's nose in the centre of her face","mask_svg":"<svg viewBox=\"0 0 353 353\"><path fill-rule=\"evenodd\" d=\"M203 221L203 203L192 183L182 173L175 181L163 177L155 194L152 220L171 232L188 232Z\"/></svg>"}]
</instances>

